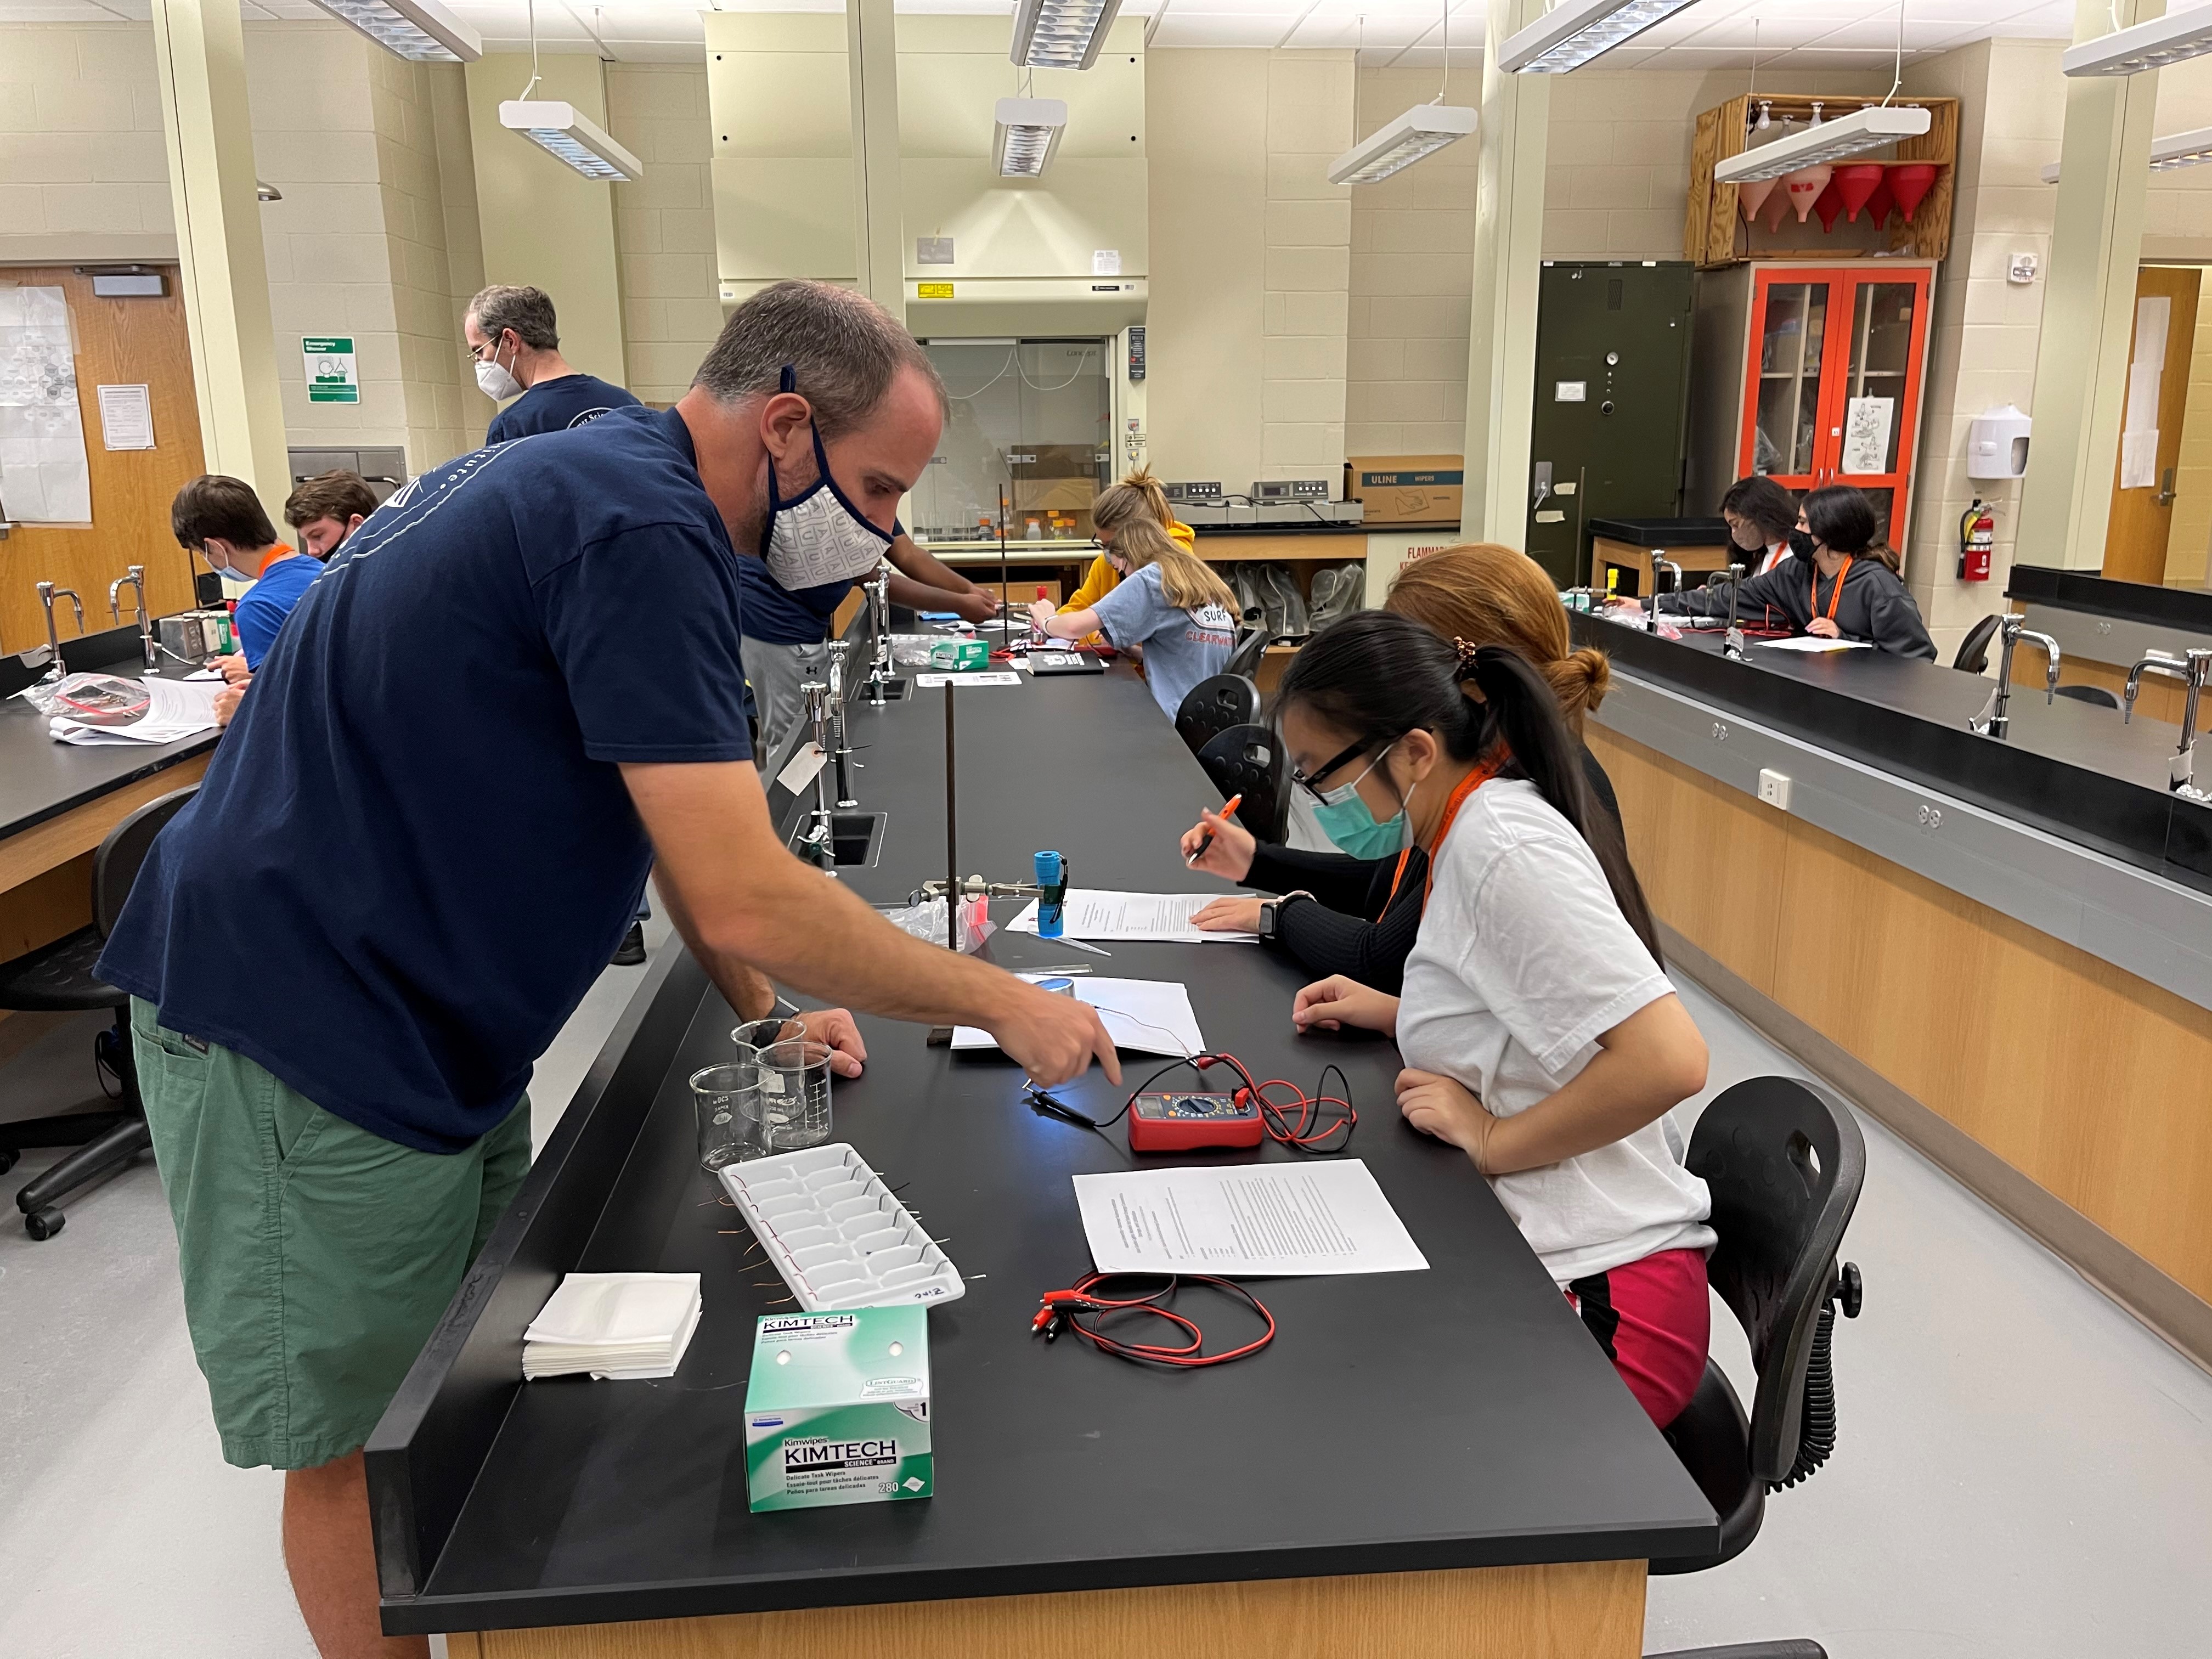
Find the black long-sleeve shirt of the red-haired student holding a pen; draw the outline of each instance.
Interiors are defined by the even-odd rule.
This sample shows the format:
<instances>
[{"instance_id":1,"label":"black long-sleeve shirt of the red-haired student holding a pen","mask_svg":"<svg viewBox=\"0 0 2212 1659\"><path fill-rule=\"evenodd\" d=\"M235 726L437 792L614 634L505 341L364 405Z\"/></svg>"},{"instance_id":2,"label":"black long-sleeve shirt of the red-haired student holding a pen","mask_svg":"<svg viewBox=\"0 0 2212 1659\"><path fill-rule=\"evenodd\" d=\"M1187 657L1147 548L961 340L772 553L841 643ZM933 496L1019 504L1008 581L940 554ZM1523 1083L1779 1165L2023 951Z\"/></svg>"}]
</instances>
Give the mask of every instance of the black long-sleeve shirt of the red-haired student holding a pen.
<instances>
[{"instance_id":1,"label":"black long-sleeve shirt of the red-haired student holding a pen","mask_svg":"<svg viewBox=\"0 0 2212 1659\"><path fill-rule=\"evenodd\" d=\"M1593 803L1615 823L1621 803L1613 796L1613 779L1590 750L1582 750L1582 779ZM1405 984L1405 958L1413 953L1420 933L1420 902L1429 887L1429 854L1420 847L1405 860L1405 880L1391 894L1398 858L1347 858L1340 852L1298 852L1265 841L1252 852L1245 880L1270 894L1307 891L1312 905L1283 905L1274 914L1276 949L1327 978L1343 973L1376 991L1398 995Z\"/></svg>"}]
</instances>

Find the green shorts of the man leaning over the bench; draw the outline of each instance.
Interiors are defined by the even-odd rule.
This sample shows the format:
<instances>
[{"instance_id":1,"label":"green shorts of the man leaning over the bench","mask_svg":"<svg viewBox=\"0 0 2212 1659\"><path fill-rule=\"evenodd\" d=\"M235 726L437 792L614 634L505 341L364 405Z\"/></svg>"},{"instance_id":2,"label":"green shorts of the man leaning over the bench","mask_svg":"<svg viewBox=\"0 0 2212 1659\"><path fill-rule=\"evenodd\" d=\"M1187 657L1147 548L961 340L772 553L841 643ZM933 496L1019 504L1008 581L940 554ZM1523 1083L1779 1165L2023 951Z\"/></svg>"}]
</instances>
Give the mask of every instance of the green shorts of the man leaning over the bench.
<instances>
[{"instance_id":1,"label":"green shorts of the man leaning over the bench","mask_svg":"<svg viewBox=\"0 0 2212 1659\"><path fill-rule=\"evenodd\" d=\"M358 1449L531 1164L529 1099L467 1152L347 1124L131 998L139 1093L177 1219L184 1316L223 1458Z\"/></svg>"}]
</instances>

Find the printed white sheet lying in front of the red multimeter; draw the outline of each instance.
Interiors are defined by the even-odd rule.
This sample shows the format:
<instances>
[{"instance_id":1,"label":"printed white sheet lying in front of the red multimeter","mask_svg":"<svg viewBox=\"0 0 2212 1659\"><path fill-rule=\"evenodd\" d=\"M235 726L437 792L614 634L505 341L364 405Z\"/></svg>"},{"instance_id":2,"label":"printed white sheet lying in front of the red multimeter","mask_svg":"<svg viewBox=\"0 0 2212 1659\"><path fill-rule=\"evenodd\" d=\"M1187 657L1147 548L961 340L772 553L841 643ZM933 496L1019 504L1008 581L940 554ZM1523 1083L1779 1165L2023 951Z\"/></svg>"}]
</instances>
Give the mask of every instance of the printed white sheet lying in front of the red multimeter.
<instances>
[{"instance_id":1,"label":"printed white sheet lying in front of the red multimeter","mask_svg":"<svg viewBox=\"0 0 2212 1659\"><path fill-rule=\"evenodd\" d=\"M1427 1256L1360 1159L1077 1175L1099 1272L1391 1274Z\"/></svg>"}]
</instances>

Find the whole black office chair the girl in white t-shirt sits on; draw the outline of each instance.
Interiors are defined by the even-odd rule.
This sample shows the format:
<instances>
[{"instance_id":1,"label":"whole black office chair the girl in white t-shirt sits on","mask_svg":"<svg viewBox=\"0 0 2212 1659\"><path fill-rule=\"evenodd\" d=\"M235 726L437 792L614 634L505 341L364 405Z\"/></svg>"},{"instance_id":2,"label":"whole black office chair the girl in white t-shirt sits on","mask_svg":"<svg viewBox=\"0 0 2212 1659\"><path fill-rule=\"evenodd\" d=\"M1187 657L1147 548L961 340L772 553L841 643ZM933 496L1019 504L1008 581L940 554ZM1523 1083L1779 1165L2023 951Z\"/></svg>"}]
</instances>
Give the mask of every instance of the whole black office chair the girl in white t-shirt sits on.
<instances>
[{"instance_id":1,"label":"whole black office chair the girl in white t-shirt sits on","mask_svg":"<svg viewBox=\"0 0 2212 1659\"><path fill-rule=\"evenodd\" d=\"M1794 1077L1752 1077L1697 1119L1690 1172L1712 1190L1721 1234L1705 1279L1752 1340L1759 1394L1745 1420L1721 1367L1666 1440L1721 1517L1712 1555L1652 1562L1652 1573L1703 1573L1759 1537L1770 1491L1807 1480L1836 1447L1829 1336L1836 1303L1858 1318L1858 1263L1836 1265L1843 1230L1867 1183L1867 1144L1849 1108ZM1686 1648L1652 1659L1825 1659L1818 1641Z\"/></svg>"}]
</instances>

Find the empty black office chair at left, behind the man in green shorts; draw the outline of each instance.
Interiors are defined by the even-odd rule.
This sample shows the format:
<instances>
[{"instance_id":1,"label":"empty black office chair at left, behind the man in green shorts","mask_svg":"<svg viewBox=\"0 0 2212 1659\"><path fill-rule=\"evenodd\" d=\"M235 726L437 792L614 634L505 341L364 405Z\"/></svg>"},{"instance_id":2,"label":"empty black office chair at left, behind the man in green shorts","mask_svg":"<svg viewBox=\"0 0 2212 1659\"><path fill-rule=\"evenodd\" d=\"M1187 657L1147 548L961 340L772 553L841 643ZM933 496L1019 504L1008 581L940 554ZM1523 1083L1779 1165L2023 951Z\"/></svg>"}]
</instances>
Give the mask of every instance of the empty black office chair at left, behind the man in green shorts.
<instances>
[{"instance_id":1,"label":"empty black office chair at left, behind the man in green shorts","mask_svg":"<svg viewBox=\"0 0 2212 1659\"><path fill-rule=\"evenodd\" d=\"M100 980L93 973L93 962L100 960L100 947L106 945L108 929L115 927L124 900L131 898L131 883L137 880L153 838L197 792L195 783L188 790L164 794L108 830L100 852L93 854L91 925L58 938L53 945L40 945L13 962L0 962L0 1009L18 1013L115 1009L115 1024L100 1033L93 1057L122 1086L117 1108L113 1113L66 1113L0 1124L0 1175L15 1168L15 1159L27 1146L77 1148L44 1175L27 1181L15 1194L22 1228L33 1239L51 1239L62 1230L66 1221L58 1203L62 1197L122 1168L153 1146L146 1130L146 1104L137 1091L137 1064L131 1057L131 995Z\"/></svg>"}]
</instances>

